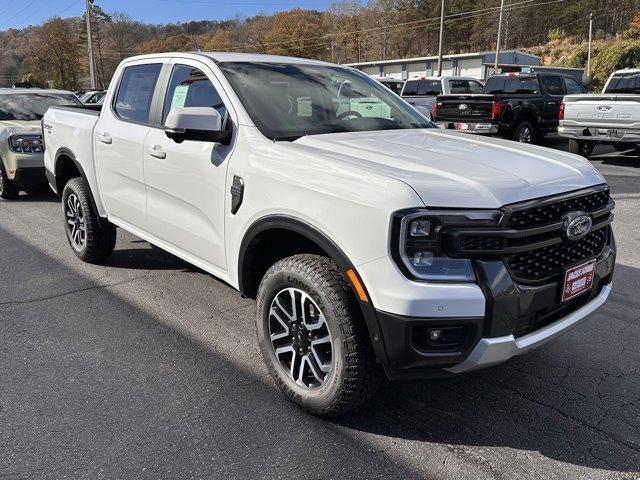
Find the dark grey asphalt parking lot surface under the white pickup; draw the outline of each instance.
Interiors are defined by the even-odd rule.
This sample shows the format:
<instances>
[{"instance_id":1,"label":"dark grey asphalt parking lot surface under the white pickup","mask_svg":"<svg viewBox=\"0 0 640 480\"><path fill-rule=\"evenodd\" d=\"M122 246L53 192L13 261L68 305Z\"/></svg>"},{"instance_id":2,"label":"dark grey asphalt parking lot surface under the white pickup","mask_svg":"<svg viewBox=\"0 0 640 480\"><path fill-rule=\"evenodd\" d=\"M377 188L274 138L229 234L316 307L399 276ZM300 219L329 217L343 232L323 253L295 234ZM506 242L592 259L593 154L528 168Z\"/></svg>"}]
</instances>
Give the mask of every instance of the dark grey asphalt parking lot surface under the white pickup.
<instances>
[{"instance_id":1,"label":"dark grey asphalt parking lot surface under the white pickup","mask_svg":"<svg viewBox=\"0 0 640 480\"><path fill-rule=\"evenodd\" d=\"M640 156L595 153L617 202L608 303L332 421L277 391L252 300L122 231L83 264L55 197L0 201L0 479L640 478Z\"/></svg>"}]
</instances>

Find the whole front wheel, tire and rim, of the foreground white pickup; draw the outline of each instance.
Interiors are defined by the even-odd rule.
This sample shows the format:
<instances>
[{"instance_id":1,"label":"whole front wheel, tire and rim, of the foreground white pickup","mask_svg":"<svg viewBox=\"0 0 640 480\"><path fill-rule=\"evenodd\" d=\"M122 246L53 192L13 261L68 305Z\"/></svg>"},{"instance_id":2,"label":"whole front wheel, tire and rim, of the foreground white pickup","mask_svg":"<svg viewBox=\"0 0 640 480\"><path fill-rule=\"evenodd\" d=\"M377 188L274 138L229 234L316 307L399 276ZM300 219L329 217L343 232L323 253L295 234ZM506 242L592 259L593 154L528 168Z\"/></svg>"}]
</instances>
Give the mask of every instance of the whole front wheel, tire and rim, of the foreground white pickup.
<instances>
[{"instance_id":1,"label":"whole front wheel, tire and rim, of the foreground white pickup","mask_svg":"<svg viewBox=\"0 0 640 480\"><path fill-rule=\"evenodd\" d=\"M257 334L278 387L311 413L343 414L379 384L351 288L329 258L295 255L267 271L258 289Z\"/></svg>"}]
</instances>

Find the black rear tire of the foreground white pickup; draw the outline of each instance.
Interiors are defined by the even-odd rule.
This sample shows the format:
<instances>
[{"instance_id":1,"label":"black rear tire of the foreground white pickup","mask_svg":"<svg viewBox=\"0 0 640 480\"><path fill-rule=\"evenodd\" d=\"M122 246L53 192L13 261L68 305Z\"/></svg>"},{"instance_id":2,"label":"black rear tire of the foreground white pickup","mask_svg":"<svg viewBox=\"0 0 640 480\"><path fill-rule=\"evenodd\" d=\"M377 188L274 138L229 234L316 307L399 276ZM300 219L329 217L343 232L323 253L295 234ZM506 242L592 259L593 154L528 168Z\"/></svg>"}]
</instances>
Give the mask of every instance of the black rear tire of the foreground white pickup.
<instances>
[{"instance_id":1,"label":"black rear tire of the foreground white pickup","mask_svg":"<svg viewBox=\"0 0 640 480\"><path fill-rule=\"evenodd\" d=\"M72 178L62 191L62 214L64 218L64 231L67 240L76 256L87 263L102 263L112 253L116 245L116 227L108 221L101 219L91 206L91 193L84 179ZM77 202L76 202L77 200ZM71 204L75 205L78 217L69 215L73 212ZM69 221L76 222L76 230ZM76 241L74 232L84 228L84 237L78 237L82 241Z\"/></svg>"}]
</instances>

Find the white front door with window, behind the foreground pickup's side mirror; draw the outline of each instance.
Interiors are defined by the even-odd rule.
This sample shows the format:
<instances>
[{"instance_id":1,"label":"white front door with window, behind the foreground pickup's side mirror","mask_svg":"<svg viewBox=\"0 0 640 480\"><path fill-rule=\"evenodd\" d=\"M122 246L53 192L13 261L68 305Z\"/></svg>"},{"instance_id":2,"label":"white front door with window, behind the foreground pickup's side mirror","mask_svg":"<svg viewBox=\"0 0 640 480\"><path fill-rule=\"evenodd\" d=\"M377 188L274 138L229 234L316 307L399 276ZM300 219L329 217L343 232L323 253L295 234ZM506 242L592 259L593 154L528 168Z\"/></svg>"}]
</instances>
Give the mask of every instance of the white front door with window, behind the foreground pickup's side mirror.
<instances>
[{"instance_id":1,"label":"white front door with window, behind the foreground pickup's side mirror","mask_svg":"<svg viewBox=\"0 0 640 480\"><path fill-rule=\"evenodd\" d=\"M161 124L173 108L211 107L230 122L220 86L197 61L173 63ZM229 125L230 127L230 125ZM151 128L144 142L149 232L181 251L226 271L224 212L226 172L232 147L169 139Z\"/></svg>"}]
</instances>

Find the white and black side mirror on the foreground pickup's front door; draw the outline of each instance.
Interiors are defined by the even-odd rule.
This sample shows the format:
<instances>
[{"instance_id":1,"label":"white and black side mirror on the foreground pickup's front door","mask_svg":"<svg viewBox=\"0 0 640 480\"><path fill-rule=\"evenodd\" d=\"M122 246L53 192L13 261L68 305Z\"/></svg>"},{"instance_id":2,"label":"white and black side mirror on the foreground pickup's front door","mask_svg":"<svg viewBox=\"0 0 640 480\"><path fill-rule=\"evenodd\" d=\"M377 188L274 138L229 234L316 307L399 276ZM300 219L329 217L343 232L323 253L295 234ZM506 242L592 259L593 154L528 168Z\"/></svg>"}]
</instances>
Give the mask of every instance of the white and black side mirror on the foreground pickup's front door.
<instances>
[{"instance_id":1,"label":"white and black side mirror on the foreground pickup's front door","mask_svg":"<svg viewBox=\"0 0 640 480\"><path fill-rule=\"evenodd\" d=\"M222 117L211 107L174 108L165 121L167 137L176 143L185 140L229 145L231 131L222 129Z\"/></svg>"}]
</instances>

